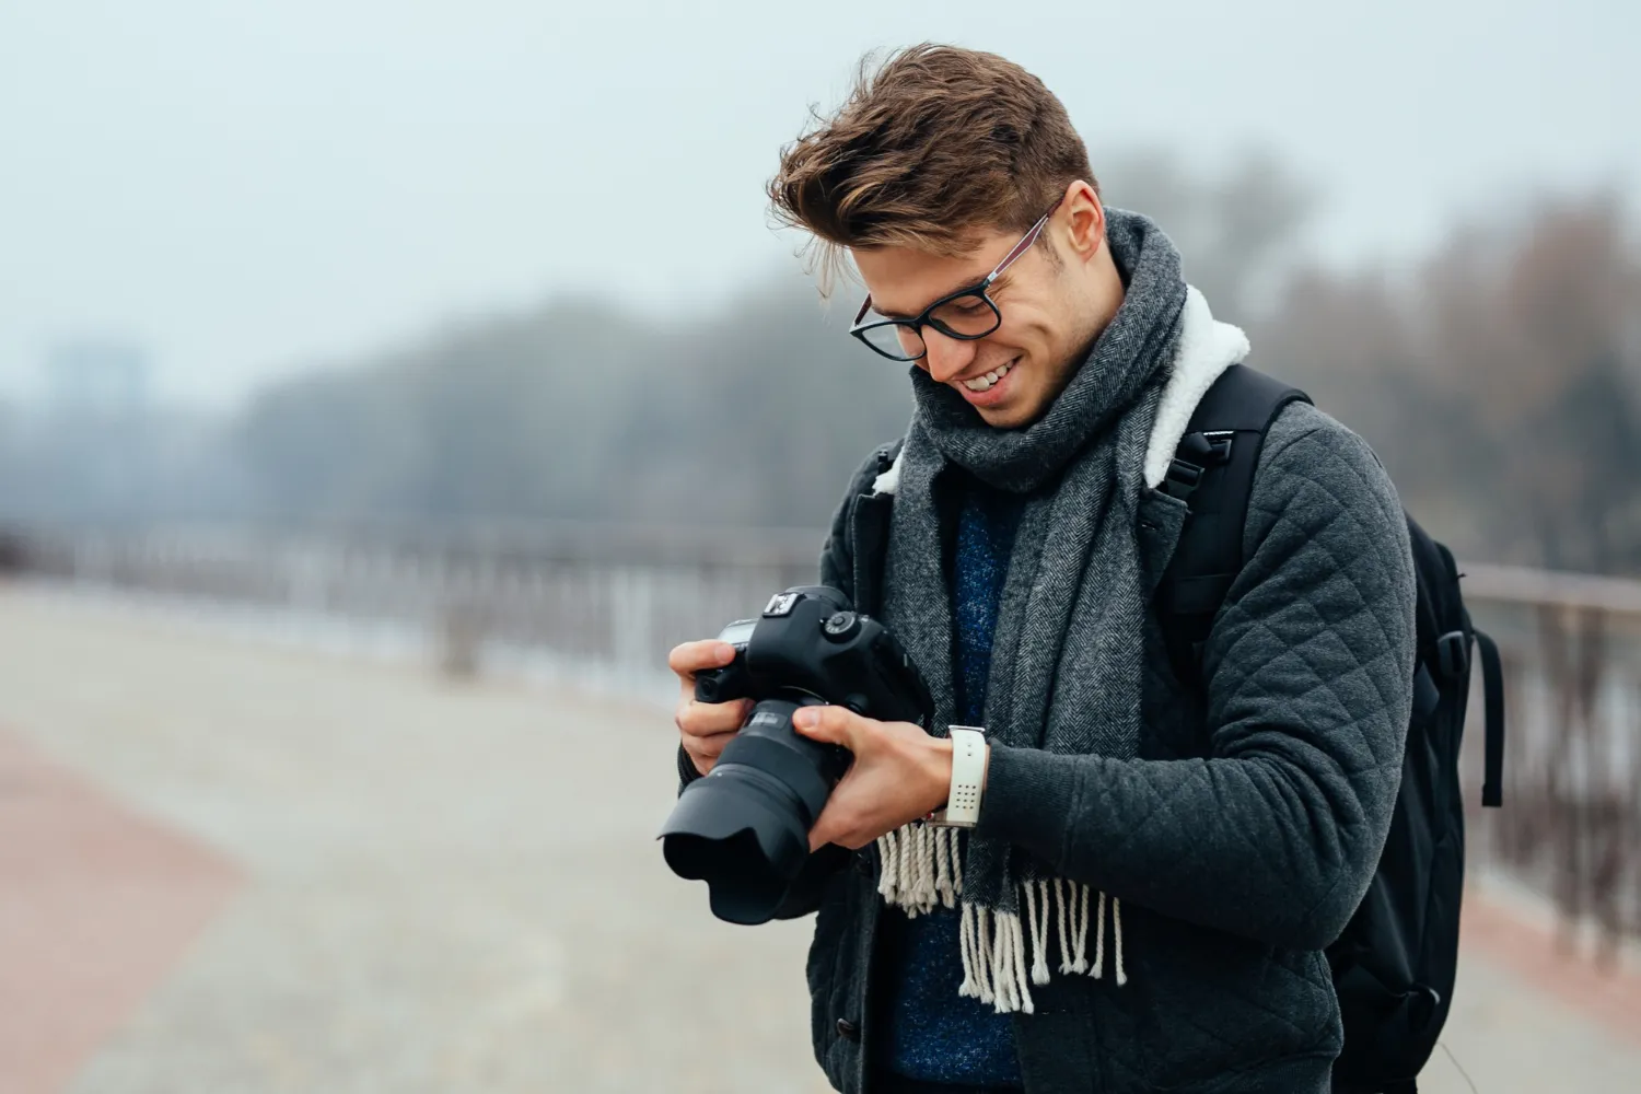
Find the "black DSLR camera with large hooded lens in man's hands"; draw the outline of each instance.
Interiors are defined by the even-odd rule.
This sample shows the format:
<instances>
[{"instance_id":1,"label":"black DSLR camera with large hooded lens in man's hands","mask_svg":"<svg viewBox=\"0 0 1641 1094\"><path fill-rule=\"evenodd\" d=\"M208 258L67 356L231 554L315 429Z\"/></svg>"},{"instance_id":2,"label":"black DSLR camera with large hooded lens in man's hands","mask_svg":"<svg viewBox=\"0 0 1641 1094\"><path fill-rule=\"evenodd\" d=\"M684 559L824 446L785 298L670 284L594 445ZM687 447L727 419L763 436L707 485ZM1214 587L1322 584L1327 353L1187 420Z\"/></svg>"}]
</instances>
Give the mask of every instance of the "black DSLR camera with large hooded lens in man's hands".
<instances>
[{"instance_id":1,"label":"black DSLR camera with large hooded lens in man's hands","mask_svg":"<svg viewBox=\"0 0 1641 1094\"><path fill-rule=\"evenodd\" d=\"M757 704L712 773L684 787L661 827L661 853L679 877L706 879L720 920L763 923L802 869L809 830L853 759L793 730L793 712L835 704L927 730L934 700L883 623L827 586L778 592L761 618L737 620L719 638L735 659L697 672L696 699Z\"/></svg>"}]
</instances>

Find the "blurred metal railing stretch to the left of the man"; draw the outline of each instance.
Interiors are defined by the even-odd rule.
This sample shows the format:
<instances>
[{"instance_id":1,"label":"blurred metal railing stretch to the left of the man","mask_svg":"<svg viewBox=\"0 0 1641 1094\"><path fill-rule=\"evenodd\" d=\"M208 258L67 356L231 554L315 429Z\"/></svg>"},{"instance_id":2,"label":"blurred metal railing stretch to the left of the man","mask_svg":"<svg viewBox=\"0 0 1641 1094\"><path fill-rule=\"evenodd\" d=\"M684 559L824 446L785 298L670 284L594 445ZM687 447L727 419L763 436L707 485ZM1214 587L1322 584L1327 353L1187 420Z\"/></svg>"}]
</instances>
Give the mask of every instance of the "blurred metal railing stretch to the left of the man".
<instances>
[{"instance_id":1,"label":"blurred metal railing stretch to the left of the man","mask_svg":"<svg viewBox=\"0 0 1641 1094\"><path fill-rule=\"evenodd\" d=\"M11 553L16 569L77 586L397 623L432 635L455 672L474 671L489 646L642 671L757 613L771 592L814 584L820 543L806 530L563 523L33 533Z\"/></svg>"}]
</instances>

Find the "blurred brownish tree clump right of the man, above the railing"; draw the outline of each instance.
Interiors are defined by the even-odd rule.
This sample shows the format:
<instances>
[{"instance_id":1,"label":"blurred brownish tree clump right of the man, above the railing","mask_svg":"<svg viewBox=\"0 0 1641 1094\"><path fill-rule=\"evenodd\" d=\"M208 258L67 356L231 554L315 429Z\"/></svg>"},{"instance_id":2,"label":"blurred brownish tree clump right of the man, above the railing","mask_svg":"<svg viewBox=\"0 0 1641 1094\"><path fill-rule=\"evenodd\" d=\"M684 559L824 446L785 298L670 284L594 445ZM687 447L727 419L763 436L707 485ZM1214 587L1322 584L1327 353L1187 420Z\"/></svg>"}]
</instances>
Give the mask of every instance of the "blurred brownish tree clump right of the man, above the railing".
<instances>
[{"instance_id":1,"label":"blurred brownish tree clump right of the man, above the railing","mask_svg":"<svg viewBox=\"0 0 1641 1094\"><path fill-rule=\"evenodd\" d=\"M1472 558L1641 569L1641 253L1608 195L1470 226L1410 279L1295 279L1262 359Z\"/></svg>"}]
</instances>

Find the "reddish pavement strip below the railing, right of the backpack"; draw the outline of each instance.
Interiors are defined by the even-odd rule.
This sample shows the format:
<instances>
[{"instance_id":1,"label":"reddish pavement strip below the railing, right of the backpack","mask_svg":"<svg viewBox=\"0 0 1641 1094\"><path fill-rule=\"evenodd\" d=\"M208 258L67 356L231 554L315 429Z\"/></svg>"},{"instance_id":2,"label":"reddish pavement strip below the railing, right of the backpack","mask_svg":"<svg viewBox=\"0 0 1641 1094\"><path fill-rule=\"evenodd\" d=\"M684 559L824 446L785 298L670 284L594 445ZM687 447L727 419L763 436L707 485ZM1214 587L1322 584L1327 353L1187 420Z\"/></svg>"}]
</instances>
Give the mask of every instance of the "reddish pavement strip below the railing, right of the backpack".
<instances>
[{"instance_id":1,"label":"reddish pavement strip below the railing, right of the backpack","mask_svg":"<svg viewBox=\"0 0 1641 1094\"><path fill-rule=\"evenodd\" d=\"M1559 999L1621 1040L1641 1045L1641 974L1636 971L1621 964L1602 968L1587 951L1569 948L1549 927L1474 889L1464 894L1459 930L1462 946L1474 948L1520 976L1533 991Z\"/></svg>"}]
</instances>

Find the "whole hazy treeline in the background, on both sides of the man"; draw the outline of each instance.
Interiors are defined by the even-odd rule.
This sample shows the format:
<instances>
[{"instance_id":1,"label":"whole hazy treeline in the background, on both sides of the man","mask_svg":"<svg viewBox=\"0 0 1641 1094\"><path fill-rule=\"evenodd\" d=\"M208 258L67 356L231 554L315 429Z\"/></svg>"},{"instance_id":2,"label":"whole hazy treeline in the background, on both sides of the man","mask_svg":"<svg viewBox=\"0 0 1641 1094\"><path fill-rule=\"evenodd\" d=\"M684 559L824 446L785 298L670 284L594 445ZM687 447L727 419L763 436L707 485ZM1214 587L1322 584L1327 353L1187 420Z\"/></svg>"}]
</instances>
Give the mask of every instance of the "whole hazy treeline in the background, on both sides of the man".
<instances>
[{"instance_id":1,"label":"whole hazy treeline in the background, on both sides of the man","mask_svg":"<svg viewBox=\"0 0 1641 1094\"><path fill-rule=\"evenodd\" d=\"M1301 264L1310 198L1268 159L1203 179L1127 156L1103 184L1433 533L1641 572L1641 254L1616 202L1518 207L1416 269L1339 272ZM684 321L556 299L279 382L231 422L149 425L123 456L0 417L0 515L819 526L911 413L904 366L843 335L855 303L798 274Z\"/></svg>"}]
</instances>

